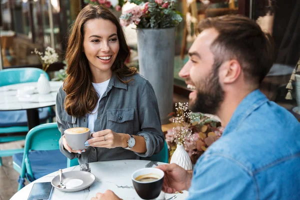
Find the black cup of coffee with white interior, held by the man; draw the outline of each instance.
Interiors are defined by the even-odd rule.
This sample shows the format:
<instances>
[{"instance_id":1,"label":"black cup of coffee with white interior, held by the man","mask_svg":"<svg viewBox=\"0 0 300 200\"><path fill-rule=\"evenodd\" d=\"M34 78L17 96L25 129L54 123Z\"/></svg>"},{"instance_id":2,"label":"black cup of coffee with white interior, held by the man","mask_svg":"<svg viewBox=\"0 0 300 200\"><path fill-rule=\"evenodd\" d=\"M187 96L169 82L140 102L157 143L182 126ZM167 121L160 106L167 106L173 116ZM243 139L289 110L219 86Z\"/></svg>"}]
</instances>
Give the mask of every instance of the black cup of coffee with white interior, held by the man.
<instances>
[{"instance_id":1,"label":"black cup of coffee with white interior, held by the man","mask_svg":"<svg viewBox=\"0 0 300 200\"><path fill-rule=\"evenodd\" d=\"M164 172L158 168L141 168L131 175L134 189L142 199L154 199L159 196L163 178Z\"/></svg>"}]
</instances>

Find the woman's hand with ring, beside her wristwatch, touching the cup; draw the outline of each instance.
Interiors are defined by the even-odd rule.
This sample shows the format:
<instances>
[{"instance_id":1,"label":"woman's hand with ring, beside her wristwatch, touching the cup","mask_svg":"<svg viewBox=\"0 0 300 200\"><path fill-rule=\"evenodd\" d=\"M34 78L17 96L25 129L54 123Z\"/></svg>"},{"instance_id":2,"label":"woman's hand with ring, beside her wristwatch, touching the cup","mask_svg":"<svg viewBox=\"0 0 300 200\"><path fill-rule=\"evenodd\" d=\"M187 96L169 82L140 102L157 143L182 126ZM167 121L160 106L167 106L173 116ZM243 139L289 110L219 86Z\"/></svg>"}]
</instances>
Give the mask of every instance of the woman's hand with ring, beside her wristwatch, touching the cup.
<instances>
[{"instance_id":1,"label":"woman's hand with ring, beside her wristwatch, touching the cup","mask_svg":"<svg viewBox=\"0 0 300 200\"><path fill-rule=\"evenodd\" d=\"M126 135L124 133L113 132L110 129L100 130L91 135L93 138L88 139L85 142L85 146L105 148L126 147L128 140L126 140Z\"/></svg>"}]
</instances>

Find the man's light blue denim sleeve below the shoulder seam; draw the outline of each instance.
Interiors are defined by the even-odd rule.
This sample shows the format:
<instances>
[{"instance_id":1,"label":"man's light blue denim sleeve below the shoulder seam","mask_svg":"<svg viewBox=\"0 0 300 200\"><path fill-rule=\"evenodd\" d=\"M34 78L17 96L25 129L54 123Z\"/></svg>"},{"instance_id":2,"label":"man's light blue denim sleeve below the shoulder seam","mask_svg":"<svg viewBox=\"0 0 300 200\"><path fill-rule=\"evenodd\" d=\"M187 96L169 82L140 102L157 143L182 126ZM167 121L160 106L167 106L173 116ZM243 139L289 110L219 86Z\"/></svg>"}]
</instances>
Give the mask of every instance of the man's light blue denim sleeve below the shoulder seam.
<instances>
[{"instance_id":1,"label":"man's light blue denim sleeve below the shoulder seam","mask_svg":"<svg viewBox=\"0 0 300 200\"><path fill-rule=\"evenodd\" d=\"M203 155L197 161L187 200L257 199L253 177L238 162L220 155Z\"/></svg>"}]
</instances>

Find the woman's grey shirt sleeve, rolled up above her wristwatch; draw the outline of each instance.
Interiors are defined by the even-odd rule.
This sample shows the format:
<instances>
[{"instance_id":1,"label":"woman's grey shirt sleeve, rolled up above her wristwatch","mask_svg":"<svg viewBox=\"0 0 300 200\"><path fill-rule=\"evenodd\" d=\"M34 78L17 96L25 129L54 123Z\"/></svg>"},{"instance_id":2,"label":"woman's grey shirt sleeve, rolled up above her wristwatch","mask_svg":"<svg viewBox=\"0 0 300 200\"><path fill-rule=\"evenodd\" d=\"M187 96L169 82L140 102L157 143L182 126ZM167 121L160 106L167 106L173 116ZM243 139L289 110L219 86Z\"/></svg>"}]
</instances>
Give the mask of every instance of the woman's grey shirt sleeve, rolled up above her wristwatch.
<instances>
[{"instance_id":1,"label":"woman's grey shirt sleeve, rolled up above her wristwatch","mask_svg":"<svg viewBox=\"0 0 300 200\"><path fill-rule=\"evenodd\" d=\"M138 101L138 121L141 131L136 135L143 136L146 141L147 151L135 154L148 157L158 153L164 144L164 136L158 111L157 99L152 85L146 81Z\"/></svg>"}]
</instances>

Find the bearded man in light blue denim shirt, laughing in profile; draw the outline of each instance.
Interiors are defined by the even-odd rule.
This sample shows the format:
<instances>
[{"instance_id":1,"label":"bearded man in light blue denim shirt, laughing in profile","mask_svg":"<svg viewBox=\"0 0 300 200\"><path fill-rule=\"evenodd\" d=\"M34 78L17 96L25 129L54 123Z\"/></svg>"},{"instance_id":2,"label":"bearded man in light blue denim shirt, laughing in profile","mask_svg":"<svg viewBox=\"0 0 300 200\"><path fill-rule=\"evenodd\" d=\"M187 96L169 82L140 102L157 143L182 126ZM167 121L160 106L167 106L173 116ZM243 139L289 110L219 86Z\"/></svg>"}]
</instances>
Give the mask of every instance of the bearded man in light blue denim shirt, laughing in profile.
<instances>
[{"instance_id":1,"label":"bearded man in light blue denim shirt, laughing in profile","mask_svg":"<svg viewBox=\"0 0 300 200\"><path fill-rule=\"evenodd\" d=\"M300 199L300 123L257 89L273 63L270 36L238 15L204 19L199 32L180 75L188 71L196 88L191 110L216 114L225 129L193 172L157 166L165 171L163 191L189 189L187 199Z\"/></svg>"}]
</instances>

